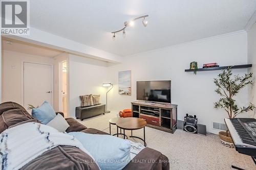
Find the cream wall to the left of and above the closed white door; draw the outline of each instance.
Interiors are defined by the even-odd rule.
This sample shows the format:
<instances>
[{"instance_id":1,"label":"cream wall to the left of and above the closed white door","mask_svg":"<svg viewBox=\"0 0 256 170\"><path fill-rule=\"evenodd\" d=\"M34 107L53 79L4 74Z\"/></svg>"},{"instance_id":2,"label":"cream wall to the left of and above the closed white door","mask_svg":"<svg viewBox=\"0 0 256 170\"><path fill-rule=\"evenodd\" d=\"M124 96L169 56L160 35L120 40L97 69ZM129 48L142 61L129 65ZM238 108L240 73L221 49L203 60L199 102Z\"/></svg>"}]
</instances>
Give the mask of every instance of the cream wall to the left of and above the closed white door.
<instances>
[{"instance_id":1,"label":"cream wall to the left of and above the closed white door","mask_svg":"<svg viewBox=\"0 0 256 170\"><path fill-rule=\"evenodd\" d=\"M2 102L16 102L23 105L24 62L53 64L48 57L31 56L3 50L2 55ZM27 106L25 106L27 107Z\"/></svg>"}]
</instances>

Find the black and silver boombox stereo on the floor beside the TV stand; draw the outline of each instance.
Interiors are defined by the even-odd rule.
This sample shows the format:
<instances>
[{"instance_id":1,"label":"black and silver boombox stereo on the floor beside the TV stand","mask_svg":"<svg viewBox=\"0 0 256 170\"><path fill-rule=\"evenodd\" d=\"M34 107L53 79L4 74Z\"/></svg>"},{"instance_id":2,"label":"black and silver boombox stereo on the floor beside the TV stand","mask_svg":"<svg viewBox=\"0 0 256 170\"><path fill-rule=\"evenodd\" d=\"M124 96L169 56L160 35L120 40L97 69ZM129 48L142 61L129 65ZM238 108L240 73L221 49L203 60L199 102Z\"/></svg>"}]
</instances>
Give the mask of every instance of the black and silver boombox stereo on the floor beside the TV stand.
<instances>
[{"instance_id":1,"label":"black and silver boombox stereo on the floor beside the TV stand","mask_svg":"<svg viewBox=\"0 0 256 170\"><path fill-rule=\"evenodd\" d=\"M184 130L190 133L197 133L197 116L186 114L184 117Z\"/></svg>"}]
</instances>

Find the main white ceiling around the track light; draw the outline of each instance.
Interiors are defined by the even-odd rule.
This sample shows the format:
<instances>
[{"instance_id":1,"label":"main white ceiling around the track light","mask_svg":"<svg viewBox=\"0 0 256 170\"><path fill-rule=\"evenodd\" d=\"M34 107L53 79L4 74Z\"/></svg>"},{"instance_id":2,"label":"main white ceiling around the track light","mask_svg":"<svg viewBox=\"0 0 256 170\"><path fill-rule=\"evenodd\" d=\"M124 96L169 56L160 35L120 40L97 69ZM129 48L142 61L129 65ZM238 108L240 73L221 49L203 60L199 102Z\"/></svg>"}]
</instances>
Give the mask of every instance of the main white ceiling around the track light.
<instances>
[{"instance_id":1,"label":"main white ceiling around the track light","mask_svg":"<svg viewBox=\"0 0 256 170\"><path fill-rule=\"evenodd\" d=\"M120 56L245 29L255 0L36 0L30 25ZM112 40L125 20L148 14Z\"/></svg>"}]
</instances>

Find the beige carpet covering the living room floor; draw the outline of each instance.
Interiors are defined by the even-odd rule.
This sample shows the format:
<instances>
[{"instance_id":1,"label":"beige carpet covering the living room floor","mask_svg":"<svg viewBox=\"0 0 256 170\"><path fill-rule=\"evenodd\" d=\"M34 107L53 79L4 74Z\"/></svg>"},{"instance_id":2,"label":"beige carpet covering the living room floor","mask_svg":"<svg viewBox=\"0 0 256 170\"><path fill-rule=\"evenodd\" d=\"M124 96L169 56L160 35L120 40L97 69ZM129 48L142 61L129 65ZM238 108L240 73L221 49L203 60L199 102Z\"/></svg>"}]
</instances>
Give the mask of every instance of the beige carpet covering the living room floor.
<instances>
[{"instance_id":1,"label":"beige carpet covering the living room floor","mask_svg":"<svg viewBox=\"0 0 256 170\"><path fill-rule=\"evenodd\" d=\"M99 115L79 122L88 128L109 133L109 119L112 117L117 117L117 113ZM111 130L112 134L116 133L115 126L112 125ZM251 157L224 147L218 135L200 136L181 130L170 134L148 127L145 133L147 147L160 151L172 160L170 169L232 169L231 164L244 169L256 169ZM130 135L131 131L125 131L125 134ZM143 138L143 130L133 131L133 135ZM129 139L142 142L140 139Z\"/></svg>"}]
</instances>

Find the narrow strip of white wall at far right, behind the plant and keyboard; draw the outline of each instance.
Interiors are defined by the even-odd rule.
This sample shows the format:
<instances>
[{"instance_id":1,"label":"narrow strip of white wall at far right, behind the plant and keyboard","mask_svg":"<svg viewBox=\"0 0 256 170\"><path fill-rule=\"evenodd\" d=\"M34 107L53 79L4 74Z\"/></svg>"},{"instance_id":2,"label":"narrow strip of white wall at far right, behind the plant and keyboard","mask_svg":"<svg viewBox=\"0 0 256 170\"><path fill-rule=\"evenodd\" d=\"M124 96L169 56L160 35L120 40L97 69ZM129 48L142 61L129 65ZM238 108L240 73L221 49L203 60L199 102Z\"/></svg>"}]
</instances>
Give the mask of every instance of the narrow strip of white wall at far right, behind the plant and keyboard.
<instances>
[{"instance_id":1,"label":"narrow strip of white wall at far right, behind the plant and keyboard","mask_svg":"<svg viewBox=\"0 0 256 170\"><path fill-rule=\"evenodd\" d=\"M248 62L252 63L252 68L249 69L253 73L254 84L249 90L249 100L256 105L256 22L248 31ZM251 115L256 118L256 110L251 112Z\"/></svg>"}]
</instances>

